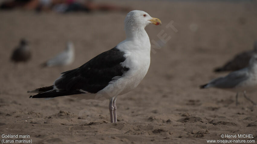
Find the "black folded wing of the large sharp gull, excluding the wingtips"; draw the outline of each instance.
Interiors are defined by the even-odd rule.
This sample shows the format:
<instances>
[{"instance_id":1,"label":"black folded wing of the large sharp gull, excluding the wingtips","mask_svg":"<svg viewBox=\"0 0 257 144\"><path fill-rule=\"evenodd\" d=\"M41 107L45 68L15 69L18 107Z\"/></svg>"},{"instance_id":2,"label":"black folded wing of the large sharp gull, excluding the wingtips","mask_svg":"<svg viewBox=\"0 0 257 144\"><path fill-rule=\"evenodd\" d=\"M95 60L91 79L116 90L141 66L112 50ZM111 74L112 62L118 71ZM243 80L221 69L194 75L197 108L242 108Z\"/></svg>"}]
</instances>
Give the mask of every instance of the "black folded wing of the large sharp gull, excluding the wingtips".
<instances>
[{"instance_id":1,"label":"black folded wing of the large sharp gull, excluding the wingtips","mask_svg":"<svg viewBox=\"0 0 257 144\"><path fill-rule=\"evenodd\" d=\"M81 67L61 73L63 75L55 81L55 86L65 91L82 89L96 93L105 88L113 77L122 76L129 70L120 64L126 59L124 54L116 47L103 52Z\"/></svg>"}]
</instances>

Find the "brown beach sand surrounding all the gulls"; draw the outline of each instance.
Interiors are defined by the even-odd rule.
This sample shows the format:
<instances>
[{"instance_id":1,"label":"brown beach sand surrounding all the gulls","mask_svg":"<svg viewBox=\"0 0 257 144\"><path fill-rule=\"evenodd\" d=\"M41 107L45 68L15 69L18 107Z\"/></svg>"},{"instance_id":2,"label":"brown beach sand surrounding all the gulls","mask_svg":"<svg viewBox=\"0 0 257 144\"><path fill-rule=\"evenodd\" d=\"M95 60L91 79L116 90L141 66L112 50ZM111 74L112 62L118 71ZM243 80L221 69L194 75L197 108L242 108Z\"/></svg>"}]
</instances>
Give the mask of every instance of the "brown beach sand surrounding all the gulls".
<instances>
[{"instance_id":1,"label":"brown beach sand surrounding all the gulls","mask_svg":"<svg viewBox=\"0 0 257 144\"><path fill-rule=\"evenodd\" d=\"M150 40L160 41L157 34L162 30L161 35L171 36L151 53L148 74L140 85L119 96L118 123L110 123L106 101L29 99L26 92L51 85L61 72L124 40L126 13L0 11L1 134L28 134L32 143L44 144L207 143L207 139L221 139L221 134L253 134L257 140L256 107L242 94L236 107L235 93L198 88L226 74L214 74L214 67L252 49L257 39L256 2L113 3L161 19L162 26L146 27ZM177 32L165 27L171 20ZM15 65L9 58L22 37L30 42L33 57L27 64ZM64 49L67 40L75 44L75 62L40 68ZM256 94L248 96L257 102Z\"/></svg>"}]
</instances>

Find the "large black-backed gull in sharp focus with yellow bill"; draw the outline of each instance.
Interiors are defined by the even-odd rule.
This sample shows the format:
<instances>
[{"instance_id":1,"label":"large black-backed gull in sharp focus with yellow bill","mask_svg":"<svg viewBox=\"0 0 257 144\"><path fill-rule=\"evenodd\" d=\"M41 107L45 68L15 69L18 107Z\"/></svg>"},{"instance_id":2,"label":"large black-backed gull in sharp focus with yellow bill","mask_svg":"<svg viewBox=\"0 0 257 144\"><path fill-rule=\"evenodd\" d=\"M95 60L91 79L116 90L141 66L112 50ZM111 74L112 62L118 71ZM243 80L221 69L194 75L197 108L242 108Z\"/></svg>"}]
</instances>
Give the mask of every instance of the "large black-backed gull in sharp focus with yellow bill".
<instances>
[{"instance_id":1,"label":"large black-backed gull in sharp focus with yellow bill","mask_svg":"<svg viewBox=\"0 0 257 144\"><path fill-rule=\"evenodd\" d=\"M130 11L125 18L126 39L81 67L61 73L51 86L38 88L30 98L72 95L79 99L109 99L111 123L117 122L116 99L134 89L150 65L151 44L145 27L161 20L144 11Z\"/></svg>"}]
</instances>

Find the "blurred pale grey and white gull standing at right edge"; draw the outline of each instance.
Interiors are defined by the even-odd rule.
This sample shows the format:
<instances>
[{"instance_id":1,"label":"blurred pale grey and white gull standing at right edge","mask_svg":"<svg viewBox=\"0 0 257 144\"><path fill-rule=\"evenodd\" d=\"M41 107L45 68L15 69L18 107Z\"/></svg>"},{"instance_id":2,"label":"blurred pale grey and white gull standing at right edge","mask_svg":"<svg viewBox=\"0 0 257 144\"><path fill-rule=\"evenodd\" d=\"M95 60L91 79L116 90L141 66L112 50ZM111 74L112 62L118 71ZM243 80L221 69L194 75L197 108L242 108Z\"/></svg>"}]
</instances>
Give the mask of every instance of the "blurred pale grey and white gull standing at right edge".
<instances>
[{"instance_id":1,"label":"blurred pale grey and white gull standing at right edge","mask_svg":"<svg viewBox=\"0 0 257 144\"><path fill-rule=\"evenodd\" d=\"M249 66L241 70L231 72L225 77L216 78L209 83L200 86L201 89L214 87L236 92L236 105L238 105L238 93L243 92L244 97L256 105L246 96L246 91L257 90L257 55L253 55L249 61Z\"/></svg>"}]
</instances>

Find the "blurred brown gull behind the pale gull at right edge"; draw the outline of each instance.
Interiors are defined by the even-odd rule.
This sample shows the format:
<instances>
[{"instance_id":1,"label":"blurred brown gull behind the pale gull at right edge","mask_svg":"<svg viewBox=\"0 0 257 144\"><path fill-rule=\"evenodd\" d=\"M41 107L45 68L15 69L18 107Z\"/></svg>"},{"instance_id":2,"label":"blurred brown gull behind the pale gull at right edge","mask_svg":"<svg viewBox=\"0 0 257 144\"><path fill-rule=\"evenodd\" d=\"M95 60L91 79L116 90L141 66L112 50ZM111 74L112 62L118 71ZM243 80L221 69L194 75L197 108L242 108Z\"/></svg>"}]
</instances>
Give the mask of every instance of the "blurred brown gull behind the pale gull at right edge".
<instances>
[{"instance_id":1,"label":"blurred brown gull behind the pale gull at right edge","mask_svg":"<svg viewBox=\"0 0 257 144\"><path fill-rule=\"evenodd\" d=\"M228 61L223 67L218 67L214 69L214 72L235 71L245 68L248 66L249 60L254 54L257 54L257 41L255 41L254 43L253 50L242 52L236 55L231 61Z\"/></svg>"}]
</instances>

